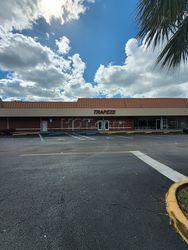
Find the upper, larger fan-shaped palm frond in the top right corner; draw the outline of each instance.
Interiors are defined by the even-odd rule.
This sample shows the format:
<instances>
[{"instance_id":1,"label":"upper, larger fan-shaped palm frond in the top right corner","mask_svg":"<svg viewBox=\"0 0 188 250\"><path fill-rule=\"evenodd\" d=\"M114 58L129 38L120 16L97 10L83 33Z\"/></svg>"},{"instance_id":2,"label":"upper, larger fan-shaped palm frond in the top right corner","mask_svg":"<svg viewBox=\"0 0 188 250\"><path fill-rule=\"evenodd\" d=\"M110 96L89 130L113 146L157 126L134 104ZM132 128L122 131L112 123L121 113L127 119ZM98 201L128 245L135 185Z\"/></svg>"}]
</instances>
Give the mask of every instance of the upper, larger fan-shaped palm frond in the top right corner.
<instances>
[{"instance_id":1,"label":"upper, larger fan-shaped palm frond in the top right corner","mask_svg":"<svg viewBox=\"0 0 188 250\"><path fill-rule=\"evenodd\" d=\"M146 36L146 45L169 39L177 30L187 9L187 0L140 0L138 5L138 37Z\"/></svg>"}]
</instances>

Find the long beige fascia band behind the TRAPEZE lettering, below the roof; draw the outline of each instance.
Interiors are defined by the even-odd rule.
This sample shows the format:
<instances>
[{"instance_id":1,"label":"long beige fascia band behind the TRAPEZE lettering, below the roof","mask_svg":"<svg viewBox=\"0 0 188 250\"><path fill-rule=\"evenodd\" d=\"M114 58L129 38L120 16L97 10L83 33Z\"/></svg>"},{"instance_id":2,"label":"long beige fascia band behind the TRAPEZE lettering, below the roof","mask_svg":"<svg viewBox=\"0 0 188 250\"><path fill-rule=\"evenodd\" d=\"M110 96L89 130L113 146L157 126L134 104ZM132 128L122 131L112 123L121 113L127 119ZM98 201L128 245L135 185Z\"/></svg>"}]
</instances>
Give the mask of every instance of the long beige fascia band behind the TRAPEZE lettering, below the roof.
<instances>
[{"instance_id":1,"label":"long beige fascia band behind the TRAPEZE lettering, below the roof","mask_svg":"<svg viewBox=\"0 0 188 250\"><path fill-rule=\"evenodd\" d=\"M188 108L120 108L115 115L94 115L96 109L0 109L0 117L188 116ZM108 110L108 109L105 109Z\"/></svg>"}]
</instances>

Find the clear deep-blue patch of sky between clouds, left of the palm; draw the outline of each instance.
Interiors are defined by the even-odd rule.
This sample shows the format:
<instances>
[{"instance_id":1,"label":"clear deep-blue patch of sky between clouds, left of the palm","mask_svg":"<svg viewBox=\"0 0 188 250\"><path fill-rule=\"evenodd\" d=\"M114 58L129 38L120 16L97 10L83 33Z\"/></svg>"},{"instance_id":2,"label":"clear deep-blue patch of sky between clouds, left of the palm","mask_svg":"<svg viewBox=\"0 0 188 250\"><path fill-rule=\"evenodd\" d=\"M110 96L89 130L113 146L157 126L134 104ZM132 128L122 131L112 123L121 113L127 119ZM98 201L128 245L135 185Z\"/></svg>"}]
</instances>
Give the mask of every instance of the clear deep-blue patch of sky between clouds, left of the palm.
<instances>
[{"instance_id":1,"label":"clear deep-blue patch of sky between clouds, left of the palm","mask_svg":"<svg viewBox=\"0 0 188 250\"><path fill-rule=\"evenodd\" d=\"M86 81L93 81L100 64L119 64L124 61L124 47L128 39L137 34L137 1L96 0L79 19L62 25L52 21L48 25L39 19L31 30L23 34L37 36L39 41L54 48L54 41L66 36L71 41L71 54L79 53L87 65ZM48 33L49 38L46 36Z\"/></svg>"}]
</instances>

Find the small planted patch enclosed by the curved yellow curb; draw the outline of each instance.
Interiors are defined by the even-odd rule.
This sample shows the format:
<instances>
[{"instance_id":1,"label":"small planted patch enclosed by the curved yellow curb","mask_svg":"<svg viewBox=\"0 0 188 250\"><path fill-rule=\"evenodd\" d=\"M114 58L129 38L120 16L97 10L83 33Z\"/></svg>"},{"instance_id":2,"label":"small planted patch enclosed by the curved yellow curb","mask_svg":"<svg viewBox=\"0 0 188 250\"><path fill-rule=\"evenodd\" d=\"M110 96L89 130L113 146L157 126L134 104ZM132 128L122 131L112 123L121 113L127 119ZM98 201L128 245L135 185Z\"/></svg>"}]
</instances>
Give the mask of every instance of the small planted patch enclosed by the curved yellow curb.
<instances>
[{"instance_id":1,"label":"small planted patch enclosed by the curved yellow curb","mask_svg":"<svg viewBox=\"0 0 188 250\"><path fill-rule=\"evenodd\" d=\"M188 218L188 186L182 187L177 193L177 200L180 208Z\"/></svg>"}]
</instances>

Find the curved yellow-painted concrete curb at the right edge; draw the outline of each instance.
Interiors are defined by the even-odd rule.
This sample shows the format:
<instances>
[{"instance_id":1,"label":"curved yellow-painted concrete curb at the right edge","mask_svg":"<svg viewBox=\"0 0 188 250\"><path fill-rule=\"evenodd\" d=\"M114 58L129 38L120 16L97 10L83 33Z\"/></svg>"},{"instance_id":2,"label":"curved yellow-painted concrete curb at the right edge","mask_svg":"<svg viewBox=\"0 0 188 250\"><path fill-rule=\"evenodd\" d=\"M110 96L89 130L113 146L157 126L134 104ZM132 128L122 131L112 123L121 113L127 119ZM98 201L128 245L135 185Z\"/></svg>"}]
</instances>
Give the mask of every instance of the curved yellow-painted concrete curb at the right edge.
<instances>
[{"instance_id":1,"label":"curved yellow-painted concrete curb at the right edge","mask_svg":"<svg viewBox=\"0 0 188 250\"><path fill-rule=\"evenodd\" d=\"M166 210L170 217L170 222L175 227L177 233L188 244L188 219L181 211L176 198L178 188L185 184L188 184L188 179L176 182L169 188L166 194Z\"/></svg>"}]
</instances>

